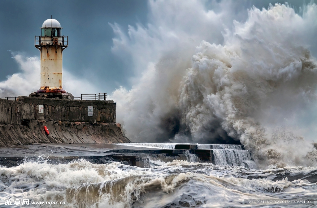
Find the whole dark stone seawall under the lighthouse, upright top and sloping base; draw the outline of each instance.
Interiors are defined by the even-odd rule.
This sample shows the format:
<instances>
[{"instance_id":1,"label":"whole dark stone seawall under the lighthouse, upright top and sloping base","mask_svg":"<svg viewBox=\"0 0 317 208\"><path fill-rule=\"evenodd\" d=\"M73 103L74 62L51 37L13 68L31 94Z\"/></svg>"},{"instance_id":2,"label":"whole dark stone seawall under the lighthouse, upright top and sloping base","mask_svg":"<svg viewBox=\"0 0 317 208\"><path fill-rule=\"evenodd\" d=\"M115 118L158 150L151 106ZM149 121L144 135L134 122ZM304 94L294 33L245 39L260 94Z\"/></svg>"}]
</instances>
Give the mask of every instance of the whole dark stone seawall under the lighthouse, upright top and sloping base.
<instances>
[{"instance_id":1,"label":"whole dark stone seawall under the lighthouse, upright top and sloping base","mask_svg":"<svg viewBox=\"0 0 317 208\"><path fill-rule=\"evenodd\" d=\"M88 116L88 106L92 114ZM42 112L40 107L43 107ZM32 143L127 143L113 101L0 99L0 147ZM49 135L43 130L46 126Z\"/></svg>"}]
</instances>

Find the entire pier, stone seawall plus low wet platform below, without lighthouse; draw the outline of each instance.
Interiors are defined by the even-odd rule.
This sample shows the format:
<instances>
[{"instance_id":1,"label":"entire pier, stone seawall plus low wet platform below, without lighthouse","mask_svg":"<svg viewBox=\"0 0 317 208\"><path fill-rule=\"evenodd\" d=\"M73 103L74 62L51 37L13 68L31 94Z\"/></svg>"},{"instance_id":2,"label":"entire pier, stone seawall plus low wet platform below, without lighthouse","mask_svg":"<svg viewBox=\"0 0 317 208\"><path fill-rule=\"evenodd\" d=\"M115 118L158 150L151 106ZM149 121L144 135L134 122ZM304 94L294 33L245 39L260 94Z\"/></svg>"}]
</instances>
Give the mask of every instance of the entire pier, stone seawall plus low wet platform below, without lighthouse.
<instances>
[{"instance_id":1,"label":"entire pier, stone seawall plus low wet platform below, without lighthouse","mask_svg":"<svg viewBox=\"0 0 317 208\"><path fill-rule=\"evenodd\" d=\"M24 161L58 164L77 159L98 164L117 161L142 168L157 166L155 161L176 159L215 163L216 150L208 147L228 148L204 145L207 149L198 149L197 144L176 144L174 149L158 149L120 143L131 141L116 123L113 101L24 96L16 101L0 99L1 166L17 166ZM234 151L245 150L241 147Z\"/></svg>"}]
</instances>

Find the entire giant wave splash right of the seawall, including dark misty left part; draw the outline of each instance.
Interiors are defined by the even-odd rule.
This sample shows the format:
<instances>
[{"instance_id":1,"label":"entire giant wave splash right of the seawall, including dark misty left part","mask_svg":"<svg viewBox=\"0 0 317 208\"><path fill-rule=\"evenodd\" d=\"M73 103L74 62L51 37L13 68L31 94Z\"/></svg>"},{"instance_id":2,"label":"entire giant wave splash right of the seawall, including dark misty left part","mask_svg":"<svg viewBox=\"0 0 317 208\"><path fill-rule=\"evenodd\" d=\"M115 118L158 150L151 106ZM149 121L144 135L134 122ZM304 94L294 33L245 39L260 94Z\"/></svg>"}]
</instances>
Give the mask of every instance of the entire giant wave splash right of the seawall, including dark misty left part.
<instances>
[{"instance_id":1,"label":"entire giant wave splash right of the seawall, including dark misty left part","mask_svg":"<svg viewBox=\"0 0 317 208\"><path fill-rule=\"evenodd\" d=\"M150 3L153 13L160 3ZM200 12L206 14L197 20L200 26L208 14L216 14ZM221 19L223 13L214 18ZM195 52L195 41L188 43L173 30L177 38L172 49L160 49L155 65L155 57L148 58L152 62L144 65L130 91L113 92L113 99L124 106L118 105L118 117L132 140L241 142L259 165L316 164L311 141L301 135L307 132L307 115L314 120L316 109L317 62L310 51L315 50L311 44L317 6L307 5L302 15L288 4L252 7L247 13L245 21L232 21L232 29L213 25L223 31L223 43L208 34L196 36L202 41ZM140 30L129 35L135 40ZM190 32L182 35L192 37ZM118 50L117 42L114 45Z\"/></svg>"}]
</instances>

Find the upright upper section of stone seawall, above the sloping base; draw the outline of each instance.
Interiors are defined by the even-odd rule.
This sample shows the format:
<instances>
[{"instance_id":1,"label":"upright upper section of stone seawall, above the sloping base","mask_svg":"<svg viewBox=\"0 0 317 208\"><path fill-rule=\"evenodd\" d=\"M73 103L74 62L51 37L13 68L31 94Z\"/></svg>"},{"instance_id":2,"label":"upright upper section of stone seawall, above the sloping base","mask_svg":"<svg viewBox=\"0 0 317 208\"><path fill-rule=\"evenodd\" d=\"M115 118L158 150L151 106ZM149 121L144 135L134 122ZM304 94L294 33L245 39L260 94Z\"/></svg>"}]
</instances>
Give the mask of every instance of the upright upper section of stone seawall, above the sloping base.
<instances>
[{"instance_id":1,"label":"upright upper section of stone seawall, above the sloping base","mask_svg":"<svg viewBox=\"0 0 317 208\"><path fill-rule=\"evenodd\" d=\"M40 113L39 106L43 106ZM88 116L88 106L93 115ZM0 123L22 125L24 120L116 122L117 103L19 96L17 101L0 99Z\"/></svg>"}]
</instances>

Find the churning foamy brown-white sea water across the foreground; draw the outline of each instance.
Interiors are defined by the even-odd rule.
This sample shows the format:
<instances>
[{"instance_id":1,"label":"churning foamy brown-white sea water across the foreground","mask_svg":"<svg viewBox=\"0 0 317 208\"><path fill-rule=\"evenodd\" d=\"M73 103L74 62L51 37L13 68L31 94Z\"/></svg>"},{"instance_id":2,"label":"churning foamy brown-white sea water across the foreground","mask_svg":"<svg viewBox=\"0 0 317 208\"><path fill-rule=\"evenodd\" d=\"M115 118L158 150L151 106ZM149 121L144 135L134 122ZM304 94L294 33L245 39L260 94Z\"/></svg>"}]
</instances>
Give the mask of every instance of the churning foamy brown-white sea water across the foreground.
<instances>
[{"instance_id":1,"label":"churning foamy brown-white sea water across the foreground","mask_svg":"<svg viewBox=\"0 0 317 208\"><path fill-rule=\"evenodd\" d=\"M173 145L146 144L158 148ZM212 146L215 147L221 150L224 146ZM235 148L231 150L243 151L238 146ZM222 154L222 157L227 157L228 161L230 156L225 155ZM29 161L16 167L0 167L0 207L27 207L4 205L5 199L9 198L66 202L62 206L30 207L317 206L243 203L244 199L317 199L317 167L271 166L257 169L245 167L248 165L224 165L221 161L211 164L194 160L197 157L173 162L152 160L150 168L119 162L92 164L85 160L58 165Z\"/></svg>"}]
</instances>

